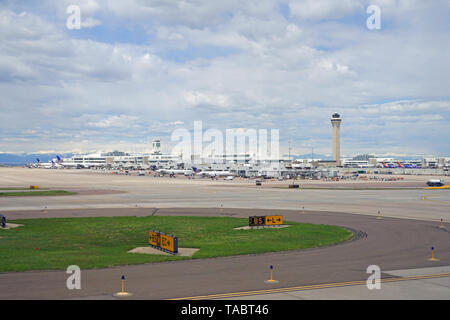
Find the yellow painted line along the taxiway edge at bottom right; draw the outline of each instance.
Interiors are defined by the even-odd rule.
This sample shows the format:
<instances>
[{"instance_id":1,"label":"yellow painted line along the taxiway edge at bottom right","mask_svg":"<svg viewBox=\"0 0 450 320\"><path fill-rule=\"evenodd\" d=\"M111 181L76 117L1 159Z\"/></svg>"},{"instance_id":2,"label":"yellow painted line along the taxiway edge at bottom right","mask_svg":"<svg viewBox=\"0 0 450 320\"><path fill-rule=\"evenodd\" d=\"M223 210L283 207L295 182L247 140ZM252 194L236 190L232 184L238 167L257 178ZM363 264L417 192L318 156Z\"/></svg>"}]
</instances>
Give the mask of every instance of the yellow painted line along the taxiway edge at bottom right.
<instances>
[{"instance_id":1,"label":"yellow painted line along the taxiway edge at bottom right","mask_svg":"<svg viewBox=\"0 0 450 320\"><path fill-rule=\"evenodd\" d=\"M450 272L440 273L440 274L431 274L431 275L422 275L422 276L385 278L385 279L381 279L381 283L436 279L436 278L445 278L445 277L450 277ZM211 295L204 295L204 296L173 298L173 299L167 299L167 300L222 299L222 298L244 297L244 296L251 296L251 295L285 293L285 292L293 292L293 291L307 291L307 290L314 290L314 289L339 288L339 287L356 286L356 285L363 285L363 284L365 285L366 283L367 283L367 280L357 280L357 281L348 281L348 282L335 282L335 283L325 283L325 284L316 284L316 285L299 286L299 287L289 287L289 288L277 288L277 289L267 289L267 290L211 294Z\"/></svg>"}]
</instances>

